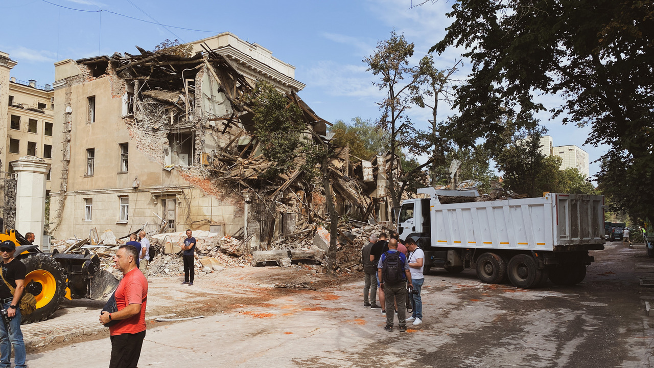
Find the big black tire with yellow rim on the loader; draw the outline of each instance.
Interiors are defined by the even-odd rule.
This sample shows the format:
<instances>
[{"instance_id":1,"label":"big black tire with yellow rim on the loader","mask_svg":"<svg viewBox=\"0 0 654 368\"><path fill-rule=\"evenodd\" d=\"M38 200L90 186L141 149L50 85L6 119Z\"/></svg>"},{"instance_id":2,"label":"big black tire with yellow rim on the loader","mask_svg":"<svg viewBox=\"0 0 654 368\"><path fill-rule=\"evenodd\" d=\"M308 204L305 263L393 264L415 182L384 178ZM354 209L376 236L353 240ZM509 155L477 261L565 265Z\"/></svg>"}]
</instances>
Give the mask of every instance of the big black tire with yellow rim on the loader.
<instances>
[{"instance_id":1,"label":"big black tire with yellow rim on the loader","mask_svg":"<svg viewBox=\"0 0 654 368\"><path fill-rule=\"evenodd\" d=\"M54 258L43 253L29 253L20 261L27 268L25 290L37 300L37 308L24 316L21 324L47 320L63 301L67 285L64 270Z\"/></svg>"}]
</instances>

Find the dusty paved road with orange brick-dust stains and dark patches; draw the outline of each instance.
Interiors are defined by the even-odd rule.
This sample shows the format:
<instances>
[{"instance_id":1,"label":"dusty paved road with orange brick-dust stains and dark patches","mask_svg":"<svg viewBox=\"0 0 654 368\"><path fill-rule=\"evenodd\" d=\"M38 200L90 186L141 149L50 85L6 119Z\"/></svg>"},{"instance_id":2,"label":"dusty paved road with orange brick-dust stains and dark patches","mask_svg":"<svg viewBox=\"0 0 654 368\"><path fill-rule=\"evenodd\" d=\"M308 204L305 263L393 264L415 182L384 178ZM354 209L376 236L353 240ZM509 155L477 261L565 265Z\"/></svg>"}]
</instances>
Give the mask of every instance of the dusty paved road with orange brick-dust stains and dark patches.
<instances>
[{"instance_id":1,"label":"dusty paved road with orange brick-dust stains and dark patches","mask_svg":"<svg viewBox=\"0 0 654 368\"><path fill-rule=\"evenodd\" d=\"M139 367L654 367L644 308L654 289L639 284L654 278L654 259L617 243L594 255L574 287L526 291L482 284L468 271L432 272L424 323L407 333L384 331L378 310L362 307L362 282L317 291L271 289L279 281L252 277L238 291L206 285L260 298L201 320L150 323ZM106 367L109 352L103 338L27 359L31 368Z\"/></svg>"}]
</instances>

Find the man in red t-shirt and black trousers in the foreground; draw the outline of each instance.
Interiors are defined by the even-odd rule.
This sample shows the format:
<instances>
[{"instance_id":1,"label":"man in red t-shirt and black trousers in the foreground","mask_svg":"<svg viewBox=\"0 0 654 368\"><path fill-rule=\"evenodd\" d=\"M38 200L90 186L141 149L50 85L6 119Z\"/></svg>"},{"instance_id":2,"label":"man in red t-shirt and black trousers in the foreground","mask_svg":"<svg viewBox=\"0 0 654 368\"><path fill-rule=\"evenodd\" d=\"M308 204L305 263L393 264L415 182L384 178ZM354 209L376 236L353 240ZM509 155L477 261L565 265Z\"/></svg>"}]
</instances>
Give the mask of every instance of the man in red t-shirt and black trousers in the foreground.
<instances>
[{"instance_id":1,"label":"man in red t-shirt and black trousers in the foreground","mask_svg":"<svg viewBox=\"0 0 654 368\"><path fill-rule=\"evenodd\" d=\"M116 268L124 274L116 288L118 312L102 312L100 322L120 320L109 327L111 334L111 362L109 368L136 368L145 339L145 304L148 299L148 280L136 267L139 253L133 246L120 246L114 255Z\"/></svg>"}]
</instances>

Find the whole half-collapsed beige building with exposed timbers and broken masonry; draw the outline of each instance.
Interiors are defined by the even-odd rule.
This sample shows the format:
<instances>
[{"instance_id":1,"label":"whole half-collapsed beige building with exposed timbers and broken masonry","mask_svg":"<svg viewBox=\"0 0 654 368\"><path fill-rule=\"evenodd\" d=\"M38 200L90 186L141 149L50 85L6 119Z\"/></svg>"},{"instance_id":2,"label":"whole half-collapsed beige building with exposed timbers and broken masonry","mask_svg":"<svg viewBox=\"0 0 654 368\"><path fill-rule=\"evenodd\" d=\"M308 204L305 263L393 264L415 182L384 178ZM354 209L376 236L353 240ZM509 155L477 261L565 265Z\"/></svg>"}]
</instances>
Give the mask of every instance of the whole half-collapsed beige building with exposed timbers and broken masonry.
<instances>
[{"instance_id":1,"label":"whole half-collapsed beige building with exposed timbers and broken masonry","mask_svg":"<svg viewBox=\"0 0 654 368\"><path fill-rule=\"evenodd\" d=\"M294 67L232 33L190 45L192 56L139 48L55 64L54 236L190 228L239 236L252 251L326 221L322 187L300 168L261 177L270 163L241 100L266 81L300 107L306 136L328 143L329 123L296 94ZM338 212L385 221L386 158L353 162L348 151L330 158Z\"/></svg>"}]
</instances>

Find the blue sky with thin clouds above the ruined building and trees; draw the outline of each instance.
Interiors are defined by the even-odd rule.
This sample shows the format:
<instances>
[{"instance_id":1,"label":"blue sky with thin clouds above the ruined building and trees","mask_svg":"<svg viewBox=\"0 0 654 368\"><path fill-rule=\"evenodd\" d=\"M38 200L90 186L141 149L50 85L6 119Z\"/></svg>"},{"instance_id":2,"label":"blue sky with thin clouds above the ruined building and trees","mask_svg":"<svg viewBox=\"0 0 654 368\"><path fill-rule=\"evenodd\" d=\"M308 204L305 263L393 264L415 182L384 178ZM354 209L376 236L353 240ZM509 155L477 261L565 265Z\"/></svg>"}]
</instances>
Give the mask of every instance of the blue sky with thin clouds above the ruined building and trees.
<instances>
[{"instance_id":1,"label":"blue sky with thin clouds above the ruined building and trees","mask_svg":"<svg viewBox=\"0 0 654 368\"><path fill-rule=\"evenodd\" d=\"M0 1L4 15L0 50L18 61L12 76L20 80L52 84L53 63L58 60L111 55L116 51L134 54L134 45L151 50L164 39L189 42L230 31L294 65L296 79L307 84L300 92L301 98L329 121L349 121L357 116L377 119L375 102L381 100L383 92L371 84L375 77L366 71L362 60L374 52L377 41L387 39L395 29L415 43L413 62L417 62L444 35L451 22L445 13L453 3L441 0L411 9L411 0L48 1L88 11L63 9L43 0ZM97 12L99 9L196 30L166 28ZM445 69L452 65L460 53L452 49L435 56L437 67ZM464 65L461 79L467 67ZM547 107L560 104L557 96L541 99ZM453 113L441 106L441 119ZM414 108L410 113L417 126L426 128L428 111ZM589 153L591 162L606 152L606 147L583 145L589 128L562 125L560 119L548 120L547 113L538 118L547 126L555 145L578 145ZM591 163L590 171L594 175L598 164Z\"/></svg>"}]
</instances>

